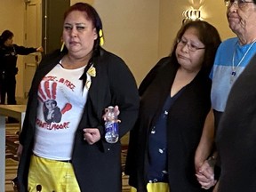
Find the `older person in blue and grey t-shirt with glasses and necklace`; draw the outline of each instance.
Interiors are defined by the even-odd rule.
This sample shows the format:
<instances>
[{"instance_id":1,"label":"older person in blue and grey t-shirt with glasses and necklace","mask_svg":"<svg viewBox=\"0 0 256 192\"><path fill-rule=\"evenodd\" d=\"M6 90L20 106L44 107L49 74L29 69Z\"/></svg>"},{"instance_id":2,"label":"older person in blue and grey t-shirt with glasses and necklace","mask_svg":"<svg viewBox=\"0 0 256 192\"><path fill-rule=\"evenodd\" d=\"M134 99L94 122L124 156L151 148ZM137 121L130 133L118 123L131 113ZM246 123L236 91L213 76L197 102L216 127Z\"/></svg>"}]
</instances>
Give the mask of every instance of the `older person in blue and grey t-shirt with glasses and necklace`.
<instances>
[{"instance_id":1,"label":"older person in blue and grey t-shirt with glasses and necklace","mask_svg":"<svg viewBox=\"0 0 256 192\"><path fill-rule=\"evenodd\" d=\"M196 149L195 157L198 180L203 188L212 187L213 172L206 159L212 156L212 151L215 149L214 135L219 127L220 117L225 111L228 94L238 76L242 74L256 53L256 0L230 0L227 5L229 28L236 37L229 38L220 44L212 68L212 110L206 117L204 136ZM220 158L222 162L223 157ZM223 171L222 168L223 166L221 166Z\"/></svg>"}]
</instances>

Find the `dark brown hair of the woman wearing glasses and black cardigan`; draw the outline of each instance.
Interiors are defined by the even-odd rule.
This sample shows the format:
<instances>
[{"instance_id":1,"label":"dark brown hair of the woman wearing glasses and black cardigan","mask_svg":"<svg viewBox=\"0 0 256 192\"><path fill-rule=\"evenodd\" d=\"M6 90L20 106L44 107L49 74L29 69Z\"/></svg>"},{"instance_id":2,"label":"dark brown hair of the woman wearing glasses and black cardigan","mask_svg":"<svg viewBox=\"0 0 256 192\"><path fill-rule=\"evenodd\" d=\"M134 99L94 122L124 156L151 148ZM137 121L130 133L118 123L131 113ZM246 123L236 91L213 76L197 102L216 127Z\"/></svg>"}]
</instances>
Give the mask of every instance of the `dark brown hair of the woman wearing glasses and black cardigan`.
<instances>
[{"instance_id":1,"label":"dark brown hair of the woman wearing glasses and black cardigan","mask_svg":"<svg viewBox=\"0 0 256 192\"><path fill-rule=\"evenodd\" d=\"M180 38L184 35L188 28L196 28L198 38L205 46L202 69L205 69L207 73L210 73L214 62L215 54L221 43L221 39L218 30L204 20L188 21L180 28L174 40L174 46L171 56L177 61L175 56L175 50L177 48L178 40L180 40Z\"/></svg>"}]
</instances>

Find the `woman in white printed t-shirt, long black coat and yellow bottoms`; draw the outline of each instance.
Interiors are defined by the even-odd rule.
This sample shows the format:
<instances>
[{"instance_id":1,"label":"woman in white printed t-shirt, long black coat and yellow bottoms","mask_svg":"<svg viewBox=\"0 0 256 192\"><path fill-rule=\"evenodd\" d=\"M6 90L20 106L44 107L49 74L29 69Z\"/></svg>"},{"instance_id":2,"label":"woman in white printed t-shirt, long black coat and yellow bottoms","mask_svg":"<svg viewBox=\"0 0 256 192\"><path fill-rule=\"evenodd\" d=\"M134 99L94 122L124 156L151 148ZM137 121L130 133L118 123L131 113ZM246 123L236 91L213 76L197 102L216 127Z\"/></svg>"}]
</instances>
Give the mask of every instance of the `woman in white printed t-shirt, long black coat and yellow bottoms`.
<instances>
[{"instance_id":1,"label":"woman in white printed t-shirt, long black coat and yellow bottoms","mask_svg":"<svg viewBox=\"0 0 256 192\"><path fill-rule=\"evenodd\" d=\"M139 95L124 60L101 48L100 16L85 3L64 15L63 50L43 58L20 132L20 191L120 192L121 143L104 139L104 109L118 106L119 136L132 129ZM51 112L52 110L52 112Z\"/></svg>"}]
</instances>

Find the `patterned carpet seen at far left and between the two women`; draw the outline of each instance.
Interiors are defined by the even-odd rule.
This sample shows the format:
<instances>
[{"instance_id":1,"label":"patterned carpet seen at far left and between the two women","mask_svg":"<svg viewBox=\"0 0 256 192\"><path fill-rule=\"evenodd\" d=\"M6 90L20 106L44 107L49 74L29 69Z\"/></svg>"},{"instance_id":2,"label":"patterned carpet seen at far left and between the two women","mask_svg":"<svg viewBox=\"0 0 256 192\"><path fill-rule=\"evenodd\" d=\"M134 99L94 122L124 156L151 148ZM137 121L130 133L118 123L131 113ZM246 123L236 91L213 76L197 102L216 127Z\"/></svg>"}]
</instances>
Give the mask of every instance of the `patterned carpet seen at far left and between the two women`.
<instances>
[{"instance_id":1,"label":"patterned carpet seen at far left and between the two women","mask_svg":"<svg viewBox=\"0 0 256 192\"><path fill-rule=\"evenodd\" d=\"M19 124L7 124L6 125L6 158L5 158L5 192L13 192L12 188L12 179L15 178L17 167L18 167L18 161L17 157L14 156L16 152L16 148L18 147L17 142L17 132L19 131ZM128 138L124 136L124 139L122 139L122 143L124 143L124 146L127 144ZM125 157L126 157L126 148L124 147L124 150L122 151L122 163L124 165ZM130 187L128 185L128 176L123 175L123 189L122 192L130 192ZM109 191L106 191L109 192Z\"/></svg>"}]
</instances>

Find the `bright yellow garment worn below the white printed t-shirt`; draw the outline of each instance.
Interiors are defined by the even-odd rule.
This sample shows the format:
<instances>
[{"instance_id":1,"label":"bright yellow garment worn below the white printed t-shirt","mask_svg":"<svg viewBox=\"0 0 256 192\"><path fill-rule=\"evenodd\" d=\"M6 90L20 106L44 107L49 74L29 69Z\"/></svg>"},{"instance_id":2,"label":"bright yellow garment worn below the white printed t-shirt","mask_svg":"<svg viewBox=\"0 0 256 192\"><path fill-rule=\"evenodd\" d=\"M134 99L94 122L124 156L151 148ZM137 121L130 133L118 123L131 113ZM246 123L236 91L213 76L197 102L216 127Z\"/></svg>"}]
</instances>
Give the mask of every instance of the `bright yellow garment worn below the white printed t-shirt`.
<instances>
[{"instance_id":1,"label":"bright yellow garment worn below the white printed t-shirt","mask_svg":"<svg viewBox=\"0 0 256 192\"><path fill-rule=\"evenodd\" d=\"M80 192L72 164L31 156L28 192L37 191L39 185L42 192Z\"/></svg>"}]
</instances>

